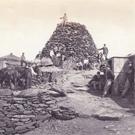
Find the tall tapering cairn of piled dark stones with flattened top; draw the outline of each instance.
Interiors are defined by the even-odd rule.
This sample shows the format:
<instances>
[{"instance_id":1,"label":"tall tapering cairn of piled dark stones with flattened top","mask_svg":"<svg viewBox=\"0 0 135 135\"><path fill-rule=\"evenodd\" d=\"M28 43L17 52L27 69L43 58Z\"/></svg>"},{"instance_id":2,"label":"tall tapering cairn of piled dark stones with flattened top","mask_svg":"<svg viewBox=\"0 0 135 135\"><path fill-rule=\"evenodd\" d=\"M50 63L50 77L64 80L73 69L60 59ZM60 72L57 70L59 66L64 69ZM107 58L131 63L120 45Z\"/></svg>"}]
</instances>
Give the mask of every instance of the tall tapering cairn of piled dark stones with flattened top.
<instances>
[{"instance_id":1,"label":"tall tapering cairn of piled dark stones with flattened top","mask_svg":"<svg viewBox=\"0 0 135 135\"><path fill-rule=\"evenodd\" d=\"M79 23L58 24L42 50L42 57L48 57L52 49L55 55L60 52L65 59L73 56L75 61L85 58L89 58L91 62L96 61L95 43L86 27Z\"/></svg>"}]
</instances>

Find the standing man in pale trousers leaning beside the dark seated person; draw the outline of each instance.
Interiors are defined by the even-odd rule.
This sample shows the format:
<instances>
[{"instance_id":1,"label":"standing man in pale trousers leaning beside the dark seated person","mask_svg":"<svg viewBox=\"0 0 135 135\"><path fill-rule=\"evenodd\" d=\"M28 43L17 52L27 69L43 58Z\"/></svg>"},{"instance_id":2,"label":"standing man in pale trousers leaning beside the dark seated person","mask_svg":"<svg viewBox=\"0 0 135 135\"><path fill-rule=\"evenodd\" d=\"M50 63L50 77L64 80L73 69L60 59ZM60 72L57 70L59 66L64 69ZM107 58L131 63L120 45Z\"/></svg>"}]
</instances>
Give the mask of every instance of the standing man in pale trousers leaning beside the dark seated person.
<instances>
[{"instance_id":1,"label":"standing man in pale trousers leaning beside the dark seated person","mask_svg":"<svg viewBox=\"0 0 135 135\"><path fill-rule=\"evenodd\" d=\"M103 97L105 97L112 86L115 76L112 70L109 67L106 67L105 65L101 66L100 70L104 73L104 77L105 77L105 86L103 91Z\"/></svg>"}]
</instances>

